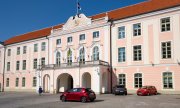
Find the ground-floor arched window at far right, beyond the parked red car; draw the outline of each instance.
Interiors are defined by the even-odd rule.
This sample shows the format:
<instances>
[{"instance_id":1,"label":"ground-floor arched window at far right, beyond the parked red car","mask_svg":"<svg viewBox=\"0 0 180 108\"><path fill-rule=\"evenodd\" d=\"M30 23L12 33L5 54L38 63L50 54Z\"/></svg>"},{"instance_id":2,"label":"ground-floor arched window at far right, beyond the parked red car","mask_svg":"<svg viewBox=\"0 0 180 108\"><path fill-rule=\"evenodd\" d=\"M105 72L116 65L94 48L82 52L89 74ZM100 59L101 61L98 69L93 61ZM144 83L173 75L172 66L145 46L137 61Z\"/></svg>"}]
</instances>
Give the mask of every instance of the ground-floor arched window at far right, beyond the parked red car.
<instances>
[{"instance_id":1,"label":"ground-floor arched window at far right, beyond the parked red car","mask_svg":"<svg viewBox=\"0 0 180 108\"><path fill-rule=\"evenodd\" d=\"M172 89L173 88L173 78L171 72L163 73L163 87L164 89Z\"/></svg>"}]
</instances>

